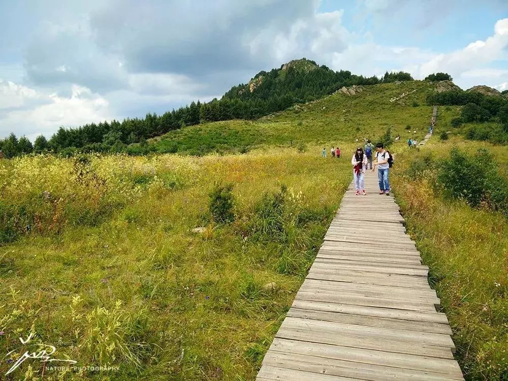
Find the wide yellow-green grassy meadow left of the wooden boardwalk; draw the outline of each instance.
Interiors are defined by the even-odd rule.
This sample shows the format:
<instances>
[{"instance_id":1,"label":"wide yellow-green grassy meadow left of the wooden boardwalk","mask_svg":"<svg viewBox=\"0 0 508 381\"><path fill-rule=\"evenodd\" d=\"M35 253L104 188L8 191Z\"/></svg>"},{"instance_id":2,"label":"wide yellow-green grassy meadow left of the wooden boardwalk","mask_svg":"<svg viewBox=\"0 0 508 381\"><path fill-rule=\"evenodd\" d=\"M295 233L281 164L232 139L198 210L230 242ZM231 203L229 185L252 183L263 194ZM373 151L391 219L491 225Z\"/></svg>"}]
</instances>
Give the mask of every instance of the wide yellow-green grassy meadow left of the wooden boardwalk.
<instances>
[{"instance_id":1,"label":"wide yellow-green grassy meadow left of the wooden boardwalk","mask_svg":"<svg viewBox=\"0 0 508 381\"><path fill-rule=\"evenodd\" d=\"M119 366L27 360L7 379L254 379L351 181L320 153L1 161L3 351L33 332L54 358ZM216 183L231 224L211 220Z\"/></svg>"}]
</instances>

